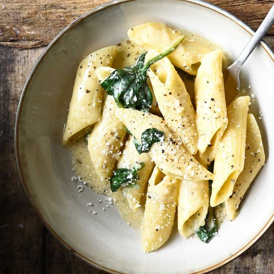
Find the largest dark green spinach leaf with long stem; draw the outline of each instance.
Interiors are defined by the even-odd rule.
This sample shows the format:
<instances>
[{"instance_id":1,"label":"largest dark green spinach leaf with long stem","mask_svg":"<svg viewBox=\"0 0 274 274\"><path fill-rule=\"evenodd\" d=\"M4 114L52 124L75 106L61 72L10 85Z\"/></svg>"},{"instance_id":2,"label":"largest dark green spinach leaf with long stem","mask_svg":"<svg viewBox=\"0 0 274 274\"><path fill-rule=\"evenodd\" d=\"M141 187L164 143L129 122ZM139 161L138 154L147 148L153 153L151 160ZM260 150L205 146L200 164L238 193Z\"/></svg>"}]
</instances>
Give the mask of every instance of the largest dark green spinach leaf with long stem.
<instances>
[{"instance_id":1,"label":"largest dark green spinach leaf with long stem","mask_svg":"<svg viewBox=\"0 0 274 274\"><path fill-rule=\"evenodd\" d=\"M144 64L145 54L141 54L133 67L117 69L101 83L108 95L112 95L119 108L148 111L152 103L152 93L147 85L148 68L170 54L183 41L181 36L170 48Z\"/></svg>"}]
</instances>

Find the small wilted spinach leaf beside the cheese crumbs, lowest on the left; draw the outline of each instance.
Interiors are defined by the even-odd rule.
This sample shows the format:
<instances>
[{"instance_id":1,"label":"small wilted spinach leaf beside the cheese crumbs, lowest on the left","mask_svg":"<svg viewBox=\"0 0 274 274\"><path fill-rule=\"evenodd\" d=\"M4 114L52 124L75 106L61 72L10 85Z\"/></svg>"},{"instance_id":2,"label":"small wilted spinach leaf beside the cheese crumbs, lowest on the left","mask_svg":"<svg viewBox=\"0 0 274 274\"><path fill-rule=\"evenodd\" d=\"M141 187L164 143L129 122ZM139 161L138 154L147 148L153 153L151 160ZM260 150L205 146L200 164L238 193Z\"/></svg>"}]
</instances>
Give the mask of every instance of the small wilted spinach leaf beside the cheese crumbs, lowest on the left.
<instances>
[{"instance_id":1,"label":"small wilted spinach leaf beside the cheese crumbs, lowest on the left","mask_svg":"<svg viewBox=\"0 0 274 274\"><path fill-rule=\"evenodd\" d=\"M144 163L137 163L132 169L119 168L113 171L111 177L111 191L116 192L120 186L133 186L139 179L138 171L144 167Z\"/></svg>"}]
</instances>

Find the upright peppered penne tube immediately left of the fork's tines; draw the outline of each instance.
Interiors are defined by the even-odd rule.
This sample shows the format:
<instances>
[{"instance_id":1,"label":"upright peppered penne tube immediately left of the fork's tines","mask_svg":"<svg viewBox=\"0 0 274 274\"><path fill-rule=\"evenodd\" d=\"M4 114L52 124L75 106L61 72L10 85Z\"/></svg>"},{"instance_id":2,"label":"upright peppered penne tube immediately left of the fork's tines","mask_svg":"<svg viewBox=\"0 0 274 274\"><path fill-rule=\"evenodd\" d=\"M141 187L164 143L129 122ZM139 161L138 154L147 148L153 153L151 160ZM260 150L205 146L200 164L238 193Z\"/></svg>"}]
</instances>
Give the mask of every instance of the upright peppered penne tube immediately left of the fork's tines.
<instances>
[{"instance_id":1,"label":"upright peppered penne tube immediately left of the fork's tines","mask_svg":"<svg viewBox=\"0 0 274 274\"><path fill-rule=\"evenodd\" d=\"M218 143L228 124L222 56L221 49L205 55L195 79L198 149L207 164L215 158Z\"/></svg>"}]
</instances>

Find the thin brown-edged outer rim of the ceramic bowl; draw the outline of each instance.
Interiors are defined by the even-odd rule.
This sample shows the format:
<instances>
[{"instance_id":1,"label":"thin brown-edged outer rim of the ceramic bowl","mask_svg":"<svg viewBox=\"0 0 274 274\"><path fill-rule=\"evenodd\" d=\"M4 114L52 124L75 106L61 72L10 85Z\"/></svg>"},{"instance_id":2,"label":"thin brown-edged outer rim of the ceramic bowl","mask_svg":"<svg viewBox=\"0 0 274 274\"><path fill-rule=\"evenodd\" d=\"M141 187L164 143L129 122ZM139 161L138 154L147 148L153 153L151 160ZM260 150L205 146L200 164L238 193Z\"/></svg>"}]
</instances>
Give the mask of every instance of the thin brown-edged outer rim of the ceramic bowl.
<instances>
[{"instance_id":1,"label":"thin brown-edged outer rim of the ceramic bowl","mask_svg":"<svg viewBox=\"0 0 274 274\"><path fill-rule=\"evenodd\" d=\"M28 89L28 86L32 80L32 77L35 74L36 69L38 68L38 66L40 65L40 63L42 62L43 58L47 55L47 53L50 51L50 49L55 45L55 43L59 40L59 38L61 36L63 36L63 34L65 34L69 29L71 29L73 26L75 26L76 24L80 23L82 20L86 19L87 17L89 17L90 15L101 11L105 8L108 8L110 6L114 6L117 4L121 4L121 3L126 3L126 2L132 2L132 1L137 1L137 0L113 0L111 2L99 5L91 10L89 10L88 12L84 13L83 15L81 15L80 17L78 17L77 19L75 19L74 21L72 21L69 25L67 25L60 33L58 33L54 39L48 44L48 46L43 50L43 52L41 53L41 55L39 56L39 58L36 60L36 62L34 63L27 79L26 82L24 84L21 96L20 96L20 100L18 103L18 107L17 107L17 113L16 113L16 119L15 119L15 131L14 131L14 146L15 146L15 157L16 157L16 163L17 163L17 168L19 171L19 176L21 179L21 183L23 186L23 189L26 193L26 196L30 202L30 204L32 205L32 207L34 208L36 214L39 216L40 220L42 221L42 223L45 225L45 227L48 229L48 231L50 231L50 233L65 247L67 248L72 254L74 254L75 256L77 256L79 259L81 259L82 261L90 264L91 266L112 273L112 274L124 274L122 272L117 272L115 270L103 267L101 265L98 265L97 263L91 261L90 259L86 258L85 256L83 256L82 254L78 253L76 250L72 249L61 237L59 237L59 235L51 228L51 226L46 222L46 220L43 218L42 214L40 213L39 209L36 207L34 201L31 198L31 195L29 193L28 187L27 187L27 183L26 180L24 178L23 175L23 169L22 169L22 165L21 165L21 161L20 161L20 153L19 153L19 143L18 143L18 132L19 132L19 123L20 123L20 117L21 117L21 110L23 107L23 102L24 102L24 97L26 94L26 91ZM193 4L198 4L201 5L203 7L209 8L215 12L218 12L222 15L224 15L225 17L231 19L232 21L236 22L239 26L241 26L244 30L246 30L248 33L250 33L251 35L254 35L254 30L248 26L246 23L244 23L242 20L238 19L235 15L233 15L232 13L224 10L223 8L216 6L214 4L205 2L203 0L179 0L182 2L190 2ZM267 43L262 40L260 43L263 48L265 49L265 51L268 53L268 55L270 56L270 58L273 60L274 62L274 52L272 51L272 49L267 45ZM274 213L272 215L272 217L269 219L269 221L265 224L265 226L261 229L261 231L248 243L246 244L242 249L240 249L238 252L236 252L235 254L231 255L230 257L226 258L225 260L223 260L222 262L215 264L211 267L208 267L206 269L203 269L201 271L195 272L195 274L204 274L204 273L208 273L210 271L216 270L226 264L228 264L229 262L233 261L234 259L236 259L237 257L239 257L242 253L244 253L245 251L247 251L251 246L253 246L264 234L265 232L271 227L272 223L274 222ZM193 273L194 274L194 273Z\"/></svg>"}]
</instances>

